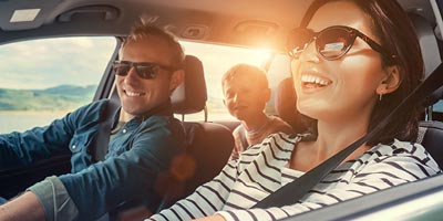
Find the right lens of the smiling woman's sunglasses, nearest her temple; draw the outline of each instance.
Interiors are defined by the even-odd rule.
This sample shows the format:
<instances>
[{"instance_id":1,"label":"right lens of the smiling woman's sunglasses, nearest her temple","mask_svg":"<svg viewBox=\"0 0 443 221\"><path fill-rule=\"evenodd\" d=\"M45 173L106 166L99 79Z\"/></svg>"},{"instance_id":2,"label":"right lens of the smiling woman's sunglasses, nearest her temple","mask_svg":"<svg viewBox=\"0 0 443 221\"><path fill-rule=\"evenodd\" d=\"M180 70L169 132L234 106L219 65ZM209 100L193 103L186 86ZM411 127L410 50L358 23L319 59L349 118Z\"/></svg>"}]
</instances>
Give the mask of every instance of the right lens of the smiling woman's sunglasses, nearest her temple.
<instances>
[{"instance_id":1,"label":"right lens of the smiling woman's sunglasses, nearest her temple","mask_svg":"<svg viewBox=\"0 0 443 221\"><path fill-rule=\"evenodd\" d=\"M351 43L351 32L346 29L328 29L316 40L317 51L326 59L339 59L347 53Z\"/></svg>"}]
</instances>

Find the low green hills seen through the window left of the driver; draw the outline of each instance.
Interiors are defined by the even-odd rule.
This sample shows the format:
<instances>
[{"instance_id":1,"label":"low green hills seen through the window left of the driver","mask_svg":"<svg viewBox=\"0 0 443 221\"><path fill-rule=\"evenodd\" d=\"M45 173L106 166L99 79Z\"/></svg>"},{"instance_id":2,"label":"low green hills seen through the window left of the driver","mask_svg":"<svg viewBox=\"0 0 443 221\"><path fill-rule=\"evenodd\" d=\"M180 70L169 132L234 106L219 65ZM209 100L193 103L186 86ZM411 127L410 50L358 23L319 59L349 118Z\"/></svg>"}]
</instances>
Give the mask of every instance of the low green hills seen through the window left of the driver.
<instances>
[{"instance_id":1,"label":"low green hills seen through the window left of the driver","mask_svg":"<svg viewBox=\"0 0 443 221\"><path fill-rule=\"evenodd\" d=\"M0 88L0 110L69 110L92 101L96 85L45 90Z\"/></svg>"}]
</instances>

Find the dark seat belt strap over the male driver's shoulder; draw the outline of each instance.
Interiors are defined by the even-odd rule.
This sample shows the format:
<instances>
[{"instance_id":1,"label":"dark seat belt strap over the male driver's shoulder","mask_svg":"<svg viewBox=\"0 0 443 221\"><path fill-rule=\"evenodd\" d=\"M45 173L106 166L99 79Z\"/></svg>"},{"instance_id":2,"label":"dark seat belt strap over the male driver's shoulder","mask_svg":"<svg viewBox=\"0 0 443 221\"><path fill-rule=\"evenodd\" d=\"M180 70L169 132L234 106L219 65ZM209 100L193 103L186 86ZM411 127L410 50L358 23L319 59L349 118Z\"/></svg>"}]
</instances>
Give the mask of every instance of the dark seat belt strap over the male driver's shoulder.
<instances>
[{"instance_id":1,"label":"dark seat belt strap over the male driver's shoulder","mask_svg":"<svg viewBox=\"0 0 443 221\"><path fill-rule=\"evenodd\" d=\"M95 162L104 160L104 157L106 156L107 149L110 147L111 129L115 123L114 114L120 108L120 106L121 105L117 93L114 92L111 95L111 98L106 102L104 113L101 116L102 122L99 125L96 131L97 134L94 139L95 145L92 146L94 148L92 150L92 157Z\"/></svg>"}]
</instances>

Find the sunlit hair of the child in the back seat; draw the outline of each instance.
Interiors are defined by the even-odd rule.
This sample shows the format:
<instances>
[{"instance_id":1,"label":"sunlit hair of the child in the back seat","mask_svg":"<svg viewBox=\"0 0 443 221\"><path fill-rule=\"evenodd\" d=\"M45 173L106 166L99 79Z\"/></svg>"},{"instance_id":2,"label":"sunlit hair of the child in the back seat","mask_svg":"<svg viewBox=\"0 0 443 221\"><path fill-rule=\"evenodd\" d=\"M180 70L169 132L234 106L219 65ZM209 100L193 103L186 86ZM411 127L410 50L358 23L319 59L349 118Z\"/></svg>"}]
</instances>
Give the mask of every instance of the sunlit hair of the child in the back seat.
<instances>
[{"instance_id":1,"label":"sunlit hair of the child in the back seat","mask_svg":"<svg viewBox=\"0 0 443 221\"><path fill-rule=\"evenodd\" d=\"M222 77L222 86L225 88L225 83L235 80L239 75L247 75L250 77L251 83L257 85L259 88L269 88L268 78L265 70L250 65L250 64L237 64L230 67Z\"/></svg>"}]
</instances>

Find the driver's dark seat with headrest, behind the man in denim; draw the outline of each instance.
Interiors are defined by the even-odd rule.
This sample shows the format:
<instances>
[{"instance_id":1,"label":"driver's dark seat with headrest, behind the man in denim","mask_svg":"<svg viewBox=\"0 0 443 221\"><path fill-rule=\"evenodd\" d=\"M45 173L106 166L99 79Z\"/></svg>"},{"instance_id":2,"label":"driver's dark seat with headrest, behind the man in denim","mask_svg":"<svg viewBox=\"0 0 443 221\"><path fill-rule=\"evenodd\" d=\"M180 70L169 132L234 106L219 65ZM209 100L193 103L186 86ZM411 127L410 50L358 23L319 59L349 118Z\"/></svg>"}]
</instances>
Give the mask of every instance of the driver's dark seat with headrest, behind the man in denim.
<instances>
[{"instance_id":1,"label":"driver's dark seat with headrest, behind the man in denim","mask_svg":"<svg viewBox=\"0 0 443 221\"><path fill-rule=\"evenodd\" d=\"M202 62L193 55L185 59L185 80L173 93L173 109L183 117L187 148L186 155L172 168L172 182L158 208L165 209L176 200L188 196L194 190L217 176L229 159L234 147L230 130L220 124L185 122L184 115L205 110L206 83Z\"/></svg>"}]
</instances>

